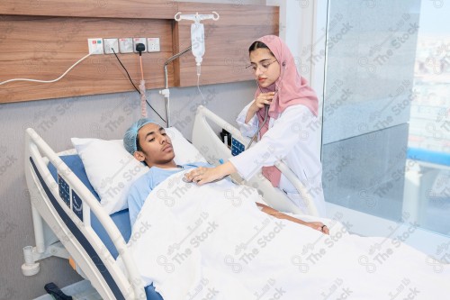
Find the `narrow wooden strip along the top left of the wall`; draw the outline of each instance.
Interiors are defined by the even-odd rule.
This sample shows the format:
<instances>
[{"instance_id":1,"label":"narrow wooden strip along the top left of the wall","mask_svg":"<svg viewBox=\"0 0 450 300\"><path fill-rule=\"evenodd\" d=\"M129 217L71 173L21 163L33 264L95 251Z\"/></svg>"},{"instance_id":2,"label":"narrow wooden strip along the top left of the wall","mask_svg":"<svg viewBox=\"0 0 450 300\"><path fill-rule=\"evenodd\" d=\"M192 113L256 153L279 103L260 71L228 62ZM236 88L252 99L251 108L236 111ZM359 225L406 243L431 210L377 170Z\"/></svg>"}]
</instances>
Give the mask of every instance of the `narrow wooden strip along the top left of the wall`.
<instances>
[{"instance_id":1,"label":"narrow wooden strip along the top left of the wall","mask_svg":"<svg viewBox=\"0 0 450 300\"><path fill-rule=\"evenodd\" d=\"M175 0L1 0L0 14L173 19Z\"/></svg>"}]
</instances>

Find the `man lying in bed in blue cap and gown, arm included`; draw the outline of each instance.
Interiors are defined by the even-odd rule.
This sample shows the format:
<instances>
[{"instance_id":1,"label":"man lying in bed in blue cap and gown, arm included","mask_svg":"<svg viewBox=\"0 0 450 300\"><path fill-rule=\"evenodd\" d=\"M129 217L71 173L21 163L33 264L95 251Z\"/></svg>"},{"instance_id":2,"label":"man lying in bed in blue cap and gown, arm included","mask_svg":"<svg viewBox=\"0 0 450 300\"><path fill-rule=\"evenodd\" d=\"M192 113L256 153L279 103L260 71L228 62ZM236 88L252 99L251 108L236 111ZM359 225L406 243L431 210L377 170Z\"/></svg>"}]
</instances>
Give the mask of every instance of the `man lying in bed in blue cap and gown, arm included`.
<instances>
[{"instance_id":1,"label":"man lying in bed in blue cap and gown, arm included","mask_svg":"<svg viewBox=\"0 0 450 300\"><path fill-rule=\"evenodd\" d=\"M136 222L139 211L150 192L167 177L189 168L211 167L211 165L203 162L194 162L182 166L176 165L170 138L166 135L164 128L157 123L152 123L149 119L140 119L133 123L129 130L125 132L123 142L125 149L149 168L148 173L130 186L127 201L131 226ZM290 215L282 214L267 205L257 203L257 206L261 211L273 215L275 218L289 220L329 234L329 228L323 223L303 222Z\"/></svg>"}]
</instances>

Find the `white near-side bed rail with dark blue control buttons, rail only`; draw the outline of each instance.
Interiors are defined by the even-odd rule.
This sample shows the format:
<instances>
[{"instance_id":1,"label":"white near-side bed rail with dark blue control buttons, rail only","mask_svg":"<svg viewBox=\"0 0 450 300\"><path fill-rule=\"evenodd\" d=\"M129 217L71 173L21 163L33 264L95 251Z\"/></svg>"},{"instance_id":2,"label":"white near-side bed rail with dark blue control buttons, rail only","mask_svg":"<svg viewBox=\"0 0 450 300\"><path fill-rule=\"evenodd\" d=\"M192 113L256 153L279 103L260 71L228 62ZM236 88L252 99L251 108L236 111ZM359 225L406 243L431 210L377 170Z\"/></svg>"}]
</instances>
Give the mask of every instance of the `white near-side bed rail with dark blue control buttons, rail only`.
<instances>
[{"instance_id":1,"label":"white near-side bed rail with dark blue control buttons, rail only","mask_svg":"<svg viewBox=\"0 0 450 300\"><path fill-rule=\"evenodd\" d=\"M76 224L79 231L86 234L86 238L94 249L99 253L104 262L104 266L111 268L110 272L114 280L121 282L122 288L127 291L126 298L132 299L145 299L145 290L140 279L138 269L134 260L131 257L130 250L128 250L126 242L121 236L121 232L117 229L115 223L112 222L111 217L106 214L103 207L99 204L97 199L92 195L88 188L79 180L78 177L67 167L67 165L58 157L58 155L51 150L49 145L40 138L40 135L32 128L26 129L25 134L25 174L28 186L34 184L38 187L41 196L48 199L45 192L42 190L42 186L39 184L37 174L33 171L33 168L37 168L39 176L43 178L45 184L48 186L52 196L58 201L58 205L62 207L64 212L69 216L71 221ZM31 163L32 159L32 163ZM47 167L48 159L58 170L58 183L55 182ZM34 164L34 166L32 166ZM32 181L32 183L31 183ZM30 191L31 193L31 191ZM67 195L65 195L67 194ZM32 196L32 195L31 195ZM49 204L51 205L51 204ZM31 201L31 206L33 206ZM77 207L82 207L82 214L77 214L79 210ZM52 211L55 211L55 207L52 206ZM121 254L123 265L128 276L124 274L117 266L117 263L112 258L111 253L106 250L103 242L98 235L90 227L90 214L92 213L98 218L99 222L103 225L103 228L111 238L114 247ZM33 219L35 215L33 213ZM60 219L59 219L60 220ZM62 220L60 223L63 223ZM70 236L71 232L64 232ZM38 245L39 246L39 245ZM40 245L42 246L42 245ZM90 258L95 259L95 258ZM82 268L83 269L83 268ZM127 279L128 278L128 279Z\"/></svg>"}]
</instances>

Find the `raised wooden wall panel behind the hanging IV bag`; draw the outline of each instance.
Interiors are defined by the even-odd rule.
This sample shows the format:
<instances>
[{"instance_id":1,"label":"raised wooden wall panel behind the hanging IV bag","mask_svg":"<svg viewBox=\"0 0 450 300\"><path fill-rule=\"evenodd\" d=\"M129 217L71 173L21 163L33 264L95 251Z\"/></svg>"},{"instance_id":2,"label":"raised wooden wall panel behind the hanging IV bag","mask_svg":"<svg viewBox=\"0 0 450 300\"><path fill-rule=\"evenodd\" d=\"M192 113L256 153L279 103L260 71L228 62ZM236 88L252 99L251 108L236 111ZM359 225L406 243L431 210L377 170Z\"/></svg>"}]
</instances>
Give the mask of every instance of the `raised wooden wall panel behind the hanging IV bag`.
<instances>
[{"instance_id":1,"label":"raised wooden wall panel behind the hanging IV bag","mask_svg":"<svg viewBox=\"0 0 450 300\"><path fill-rule=\"evenodd\" d=\"M201 85L243 81L253 78L248 65L248 47L266 34L278 35L278 6L261 5L205 5L180 3L183 14L220 14L218 21L205 20L205 55L202 61ZM183 50L191 44L191 21L175 22L175 48ZM175 85L197 84L192 53L175 64Z\"/></svg>"}]
</instances>

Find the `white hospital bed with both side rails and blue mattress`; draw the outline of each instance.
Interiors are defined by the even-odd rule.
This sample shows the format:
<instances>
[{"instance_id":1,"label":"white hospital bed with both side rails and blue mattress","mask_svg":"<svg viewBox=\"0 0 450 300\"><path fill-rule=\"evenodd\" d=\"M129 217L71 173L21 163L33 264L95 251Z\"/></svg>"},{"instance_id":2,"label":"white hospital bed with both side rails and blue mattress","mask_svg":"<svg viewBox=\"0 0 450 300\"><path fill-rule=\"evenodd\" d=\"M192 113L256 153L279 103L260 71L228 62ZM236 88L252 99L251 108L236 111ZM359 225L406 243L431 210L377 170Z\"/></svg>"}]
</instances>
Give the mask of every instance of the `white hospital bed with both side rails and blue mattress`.
<instances>
[{"instance_id":1,"label":"white hospital bed with both side rails and blue mattress","mask_svg":"<svg viewBox=\"0 0 450 300\"><path fill-rule=\"evenodd\" d=\"M220 141L213 127L231 133L230 148ZM195 147L175 128L168 128L167 132L173 142L184 140L184 145L189 148L182 150L184 159L197 161L204 158L213 165L244 150L248 142L238 129L202 106L198 107L193 124ZM153 286L143 286L136 261L130 256L126 244L131 234L128 209L111 215L103 210L76 150L57 154L33 129L28 128L25 135L25 175L31 198L36 245L23 249L23 274L36 274L39 272L40 259L56 256L75 262L73 267L91 282L103 299L162 299ZM175 143L174 149L176 155ZM175 162L186 161L176 161L175 157ZM310 214L317 215L302 182L283 162L277 163L276 167L310 202ZM231 179L238 184L257 188L266 204L277 210L300 213L288 197L274 188L261 173L248 181L236 176L231 176ZM119 253L125 268L117 264Z\"/></svg>"}]
</instances>

